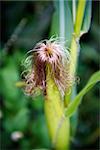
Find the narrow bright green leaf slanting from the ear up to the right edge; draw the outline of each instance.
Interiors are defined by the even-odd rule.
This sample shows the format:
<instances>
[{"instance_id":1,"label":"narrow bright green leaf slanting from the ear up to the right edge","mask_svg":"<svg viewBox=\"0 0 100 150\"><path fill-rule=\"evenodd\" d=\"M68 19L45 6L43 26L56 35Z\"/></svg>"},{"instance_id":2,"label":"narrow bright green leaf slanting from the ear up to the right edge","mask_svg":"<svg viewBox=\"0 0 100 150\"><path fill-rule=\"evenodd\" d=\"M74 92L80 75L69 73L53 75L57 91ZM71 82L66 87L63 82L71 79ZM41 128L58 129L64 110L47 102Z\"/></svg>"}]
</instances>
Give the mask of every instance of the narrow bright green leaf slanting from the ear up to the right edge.
<instances>
[{"instance_id":1,"label":"narrow bright green leaf slanting from the ear up to the right edge","mask_svg":"<svg viewBox=\"0 0 100 150\"><path fill-rule=\"evenodd\" d=\"M92 75L92 77L90 78L86 86L75 97L75 99L69 104L69 106L65 110L65 114L67 117L71 117L74 114L79 104L81 103L82 97L99 81L100 81L100 71Z\"/></svg>"}]
</instances>

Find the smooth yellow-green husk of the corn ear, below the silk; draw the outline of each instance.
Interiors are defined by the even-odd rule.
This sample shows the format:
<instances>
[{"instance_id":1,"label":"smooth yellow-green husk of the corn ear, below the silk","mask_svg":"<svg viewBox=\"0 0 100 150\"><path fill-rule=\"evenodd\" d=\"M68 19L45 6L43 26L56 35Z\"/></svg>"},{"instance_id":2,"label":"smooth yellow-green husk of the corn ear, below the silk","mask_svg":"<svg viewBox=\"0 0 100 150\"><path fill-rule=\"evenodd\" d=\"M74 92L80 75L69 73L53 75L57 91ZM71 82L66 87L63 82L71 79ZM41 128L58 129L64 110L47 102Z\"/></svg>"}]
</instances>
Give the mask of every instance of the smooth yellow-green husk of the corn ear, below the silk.
<instances>
[{"instance_id":1,"label":"smooth yellow-green husk of the corn ear, below the silk","mask_svg":"<svg viewBox=\"0 0 100 150\"><path fill-rule=\"evenodd\" d=\"M50 71L47 71L45 115L53 148L68 150L69 147L69 119L64 116L64 104Z\"/></svg>"}]
</instances>

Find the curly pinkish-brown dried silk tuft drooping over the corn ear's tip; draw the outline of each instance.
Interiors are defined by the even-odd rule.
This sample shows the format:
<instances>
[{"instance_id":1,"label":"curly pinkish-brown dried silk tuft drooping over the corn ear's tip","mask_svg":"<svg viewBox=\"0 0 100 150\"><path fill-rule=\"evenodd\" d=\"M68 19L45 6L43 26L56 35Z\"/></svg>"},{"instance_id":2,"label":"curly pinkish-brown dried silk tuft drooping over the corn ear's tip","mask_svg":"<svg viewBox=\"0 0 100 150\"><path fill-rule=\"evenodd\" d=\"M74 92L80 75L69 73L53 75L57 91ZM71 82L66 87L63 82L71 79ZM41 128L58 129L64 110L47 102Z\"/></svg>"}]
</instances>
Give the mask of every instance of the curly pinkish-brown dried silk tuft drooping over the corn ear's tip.
<instances>
[{"instance_id":1,"label":"curly pinkish-brown dried silk tuft drooping over the corn ear's tip","mask_svg":"<svg viewBox=\"0 0 100 150\"><path fill-rule=\"evenodd\" d=\"M26 70L23 73L26 83L25 93L31 95L41 90L46 94L46 67L49 65L50 78L53 78L61 96L64 96L73 82L69 74L71 58L64 43L55 38L43 40L28 53L31 55L24 62Z\"/></svg>"}]
</instances>

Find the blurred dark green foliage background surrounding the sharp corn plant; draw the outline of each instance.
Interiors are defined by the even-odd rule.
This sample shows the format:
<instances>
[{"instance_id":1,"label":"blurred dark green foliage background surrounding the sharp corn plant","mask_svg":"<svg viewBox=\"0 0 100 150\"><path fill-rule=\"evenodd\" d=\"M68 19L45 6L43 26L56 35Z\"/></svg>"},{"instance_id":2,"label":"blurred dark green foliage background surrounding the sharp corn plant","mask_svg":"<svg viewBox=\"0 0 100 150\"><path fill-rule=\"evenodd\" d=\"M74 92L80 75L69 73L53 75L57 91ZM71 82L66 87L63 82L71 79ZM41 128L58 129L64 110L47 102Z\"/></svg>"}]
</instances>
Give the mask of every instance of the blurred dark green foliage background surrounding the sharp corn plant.
<instances>
[{"instance_id":1,"label":"blurred dark green foliage background surrounding the sharp corn plant","mask_svg":"<svg viewBox=\"0 0 100 150\"><path fill-rule=\"evenodd\" d=\"M16 83L21 80L21 61L26 52L49 37L55 12L53 1L0 1L0 7L0 149L51 149L43 96L28 97ZM99 23L99 1L93 1L90 30L80 40L78 91L99 69ZM79 107L72 150L99 150L98 87L99 84L84 97Z\"/></svg>"}]
</instances>

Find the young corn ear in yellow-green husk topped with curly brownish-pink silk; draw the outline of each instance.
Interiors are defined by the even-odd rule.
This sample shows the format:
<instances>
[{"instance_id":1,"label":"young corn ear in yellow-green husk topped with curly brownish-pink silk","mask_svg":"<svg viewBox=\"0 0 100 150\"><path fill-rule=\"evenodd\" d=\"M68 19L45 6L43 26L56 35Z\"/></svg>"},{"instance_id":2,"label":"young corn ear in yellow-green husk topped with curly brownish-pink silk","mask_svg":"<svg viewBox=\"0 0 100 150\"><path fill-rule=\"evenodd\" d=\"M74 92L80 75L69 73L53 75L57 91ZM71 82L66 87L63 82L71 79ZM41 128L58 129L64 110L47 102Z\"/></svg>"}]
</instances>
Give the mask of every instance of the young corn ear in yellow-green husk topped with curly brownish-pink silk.
<instances>
[{"instance_id":1,"label":"young corn ear in yellow-green husk topped with curly brownish-pink silk","mask_svg":"<svg viewBox=\"0 0 100 150\"><path fill-rule=\"evenodd\" d=\"M44 108L53 147L66 149L69 144L69 119L64 116L64 94L72 84L69 76L70 54L58 39L36 44L31 50L31 69L26 71L25 92L38 89L45 97ZM28 58L27 58L28 60Z\"/></svg>"}]
</instances>

